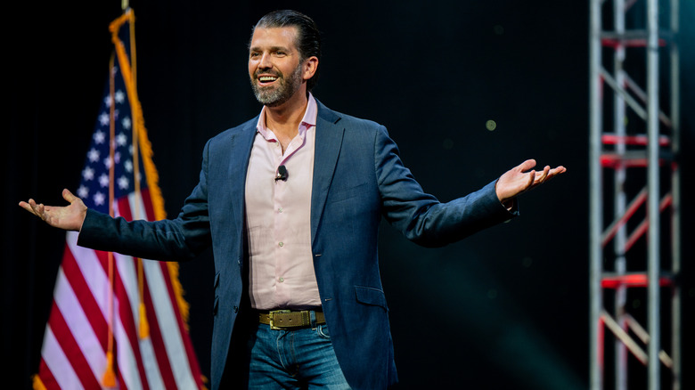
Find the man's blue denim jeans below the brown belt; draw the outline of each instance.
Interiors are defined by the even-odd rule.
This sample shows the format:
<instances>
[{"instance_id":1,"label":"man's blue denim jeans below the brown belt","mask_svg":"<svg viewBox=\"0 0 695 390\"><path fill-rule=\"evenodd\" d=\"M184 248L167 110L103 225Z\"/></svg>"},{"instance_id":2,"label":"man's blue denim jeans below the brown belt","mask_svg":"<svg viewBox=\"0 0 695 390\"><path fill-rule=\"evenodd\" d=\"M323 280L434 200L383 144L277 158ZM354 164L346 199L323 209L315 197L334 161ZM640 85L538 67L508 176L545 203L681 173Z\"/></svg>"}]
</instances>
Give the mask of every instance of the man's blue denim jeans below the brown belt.
<instances>
[{"instance_id":1,"label":"man's blue denim jeans below the brown belt","mask_svg":"<svg viewBox=\"0 0 695 390\"><path fill-rule=\"evenodd\" d=\"M312 313L312 321L315 314ZM328 327L273 330L258 324L249 337L249 389L349 389Z\"/></svg>"}]
</instances>

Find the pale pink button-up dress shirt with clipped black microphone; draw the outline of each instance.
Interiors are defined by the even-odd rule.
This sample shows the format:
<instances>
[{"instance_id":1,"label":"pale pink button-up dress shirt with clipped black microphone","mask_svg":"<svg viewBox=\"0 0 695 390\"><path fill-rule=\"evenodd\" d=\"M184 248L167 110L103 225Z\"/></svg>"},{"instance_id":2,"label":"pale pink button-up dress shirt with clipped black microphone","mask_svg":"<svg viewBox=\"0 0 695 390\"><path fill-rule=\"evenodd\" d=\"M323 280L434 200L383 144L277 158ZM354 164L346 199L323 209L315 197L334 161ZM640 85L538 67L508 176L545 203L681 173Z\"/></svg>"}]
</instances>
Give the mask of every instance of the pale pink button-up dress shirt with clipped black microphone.
<instances>
[{"instance_id":1,"label":"pale pink button-up dress shirt with clipped black microphone","mask_svg":"<svg viewBox=\"0 0 695 390\"><path fill-rule=\"evenodd\" d=\"M246 176L249 296L258 310L321 306L311 251L311 190L314 174L316 101L309 94L298 134L287 150L258 118ZM286 181L275 180L278 167Z\"/></svg>"}]
</instances>

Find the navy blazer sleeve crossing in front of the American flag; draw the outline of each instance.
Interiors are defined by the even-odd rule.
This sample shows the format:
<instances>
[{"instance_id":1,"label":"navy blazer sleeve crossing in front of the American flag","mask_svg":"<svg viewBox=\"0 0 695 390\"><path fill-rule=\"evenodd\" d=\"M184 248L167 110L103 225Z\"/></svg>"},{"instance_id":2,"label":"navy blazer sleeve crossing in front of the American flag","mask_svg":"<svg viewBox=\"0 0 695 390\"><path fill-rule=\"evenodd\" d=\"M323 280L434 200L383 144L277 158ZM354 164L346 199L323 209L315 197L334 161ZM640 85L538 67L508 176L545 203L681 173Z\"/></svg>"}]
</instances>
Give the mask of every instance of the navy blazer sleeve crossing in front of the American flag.
<instances>
[{"instance_id":1,"label":"navy blazer sleeve crossing in front of the American flag","mask_svg":"<svg viewBox=\"0 0 695 390\"><path fill-rule=\"evenodd\" d=\"M200 182L173 220L130 221L87 210L78 245L147 259L182 261L211 244L208 215L208 144L203 152Z\"/></svg>"}]
</instances>

